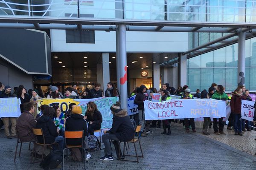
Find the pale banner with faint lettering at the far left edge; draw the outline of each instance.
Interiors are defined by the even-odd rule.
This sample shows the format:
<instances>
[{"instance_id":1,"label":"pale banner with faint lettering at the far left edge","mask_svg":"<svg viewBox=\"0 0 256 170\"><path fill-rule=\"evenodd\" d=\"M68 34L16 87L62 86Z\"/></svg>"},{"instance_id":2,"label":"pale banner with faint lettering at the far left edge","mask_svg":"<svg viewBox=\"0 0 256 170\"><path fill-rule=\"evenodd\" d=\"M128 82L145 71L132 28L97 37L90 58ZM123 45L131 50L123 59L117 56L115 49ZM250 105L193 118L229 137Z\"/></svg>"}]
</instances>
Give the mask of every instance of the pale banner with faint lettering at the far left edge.
<instances>
[{"instance_id":1,"label":"pale banner with faint lettering at the far left edge","mask_svg":"<svg viewBox=\"0 0 256 170\"><path fill-rule=\"evenodd\" d=\"M20 116L20 99L16 97L0 99L0 117L19 117Z\"/></svg>"}]
</instances>

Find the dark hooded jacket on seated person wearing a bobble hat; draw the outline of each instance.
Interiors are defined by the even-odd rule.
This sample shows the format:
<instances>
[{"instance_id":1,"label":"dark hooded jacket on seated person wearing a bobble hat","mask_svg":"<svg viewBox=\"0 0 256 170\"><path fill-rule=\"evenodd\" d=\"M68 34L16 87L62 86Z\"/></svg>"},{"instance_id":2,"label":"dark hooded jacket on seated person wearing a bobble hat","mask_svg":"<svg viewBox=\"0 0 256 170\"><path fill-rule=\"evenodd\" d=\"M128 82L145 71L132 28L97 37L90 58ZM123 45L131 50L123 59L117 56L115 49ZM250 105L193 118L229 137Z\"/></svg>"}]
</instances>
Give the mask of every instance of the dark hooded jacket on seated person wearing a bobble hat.
<instances>
[{"instance_id":1,"label":"dark hooded jacket on seated person wearing a bobble hat","mask_svg":"<svg viewBox=\"0 0 256 170\"><path fill-rule=\"evenodd\" d=\"M112 127L106 133L115 134L120 141L133 139L135 130L125 110L114 114Z\"/></svg>"}]
</instances>

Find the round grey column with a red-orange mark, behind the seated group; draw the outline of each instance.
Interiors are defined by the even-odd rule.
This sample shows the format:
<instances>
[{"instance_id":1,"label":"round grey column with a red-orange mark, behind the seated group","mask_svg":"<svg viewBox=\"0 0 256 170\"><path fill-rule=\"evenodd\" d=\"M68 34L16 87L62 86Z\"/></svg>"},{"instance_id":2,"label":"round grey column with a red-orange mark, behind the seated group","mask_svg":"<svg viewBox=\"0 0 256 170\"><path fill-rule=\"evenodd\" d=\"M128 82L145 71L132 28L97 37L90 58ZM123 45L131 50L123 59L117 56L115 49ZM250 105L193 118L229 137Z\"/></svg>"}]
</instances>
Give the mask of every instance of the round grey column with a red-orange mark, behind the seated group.
<instances>
[{"instance_id":1,"label":"round grey column with a red-orange mark, behind the seated group","mask_svg":"<svg viewBox=\"0 0 256 170\"><path fill-rule=\"evenodd\" d=\"M119 48L119 79L122 109L127 109L127 59L126 59L126 26L118 26L118 48ZM118 51L118 50L117 50Z\"/></svg>"}]
</instances>

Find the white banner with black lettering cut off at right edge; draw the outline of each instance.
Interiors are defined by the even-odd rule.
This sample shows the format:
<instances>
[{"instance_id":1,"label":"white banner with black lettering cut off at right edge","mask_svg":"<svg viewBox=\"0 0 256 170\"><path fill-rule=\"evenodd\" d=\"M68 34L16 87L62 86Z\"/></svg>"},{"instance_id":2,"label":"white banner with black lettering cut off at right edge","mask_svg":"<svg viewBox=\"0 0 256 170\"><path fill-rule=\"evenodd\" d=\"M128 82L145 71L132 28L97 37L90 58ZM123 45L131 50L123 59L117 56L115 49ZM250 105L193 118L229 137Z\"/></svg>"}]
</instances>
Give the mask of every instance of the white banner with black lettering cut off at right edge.
<instances>
[{"instance_id":1,"label":"white banner with black lettering cut off at right edge","mask_svg":"<svg viewBox=\"0 0 256 170\"><path fill-rule=\"evenodd\" d=\"M249 121L253 121L254 116L254 105L255 102L248 101L248 100L242 100L241 104L241 115L242 119L246 119Z\"/></svg>"}]
</instances>

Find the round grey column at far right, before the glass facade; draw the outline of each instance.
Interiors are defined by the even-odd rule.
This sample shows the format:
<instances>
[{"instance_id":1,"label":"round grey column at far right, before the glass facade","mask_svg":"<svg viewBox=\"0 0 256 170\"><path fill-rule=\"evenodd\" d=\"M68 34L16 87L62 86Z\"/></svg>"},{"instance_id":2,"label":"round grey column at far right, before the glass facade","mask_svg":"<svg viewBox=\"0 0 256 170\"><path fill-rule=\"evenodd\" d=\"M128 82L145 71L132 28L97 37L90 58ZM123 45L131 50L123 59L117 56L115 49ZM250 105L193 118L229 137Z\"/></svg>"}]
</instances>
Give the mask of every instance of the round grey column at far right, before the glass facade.
<instances>
[{"instance_id":1,"label":"round grey column at far right, before the glass facade","mask_svg":"<svg viewBox=\"0 0 256 170\"><path fill-rule=\"evenodd\" d=\"M238 85L245 82L245 32L239 33L238 39Z\"/></svg>"}]
</instances>

